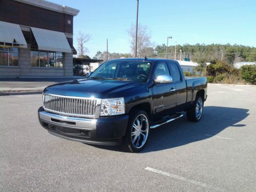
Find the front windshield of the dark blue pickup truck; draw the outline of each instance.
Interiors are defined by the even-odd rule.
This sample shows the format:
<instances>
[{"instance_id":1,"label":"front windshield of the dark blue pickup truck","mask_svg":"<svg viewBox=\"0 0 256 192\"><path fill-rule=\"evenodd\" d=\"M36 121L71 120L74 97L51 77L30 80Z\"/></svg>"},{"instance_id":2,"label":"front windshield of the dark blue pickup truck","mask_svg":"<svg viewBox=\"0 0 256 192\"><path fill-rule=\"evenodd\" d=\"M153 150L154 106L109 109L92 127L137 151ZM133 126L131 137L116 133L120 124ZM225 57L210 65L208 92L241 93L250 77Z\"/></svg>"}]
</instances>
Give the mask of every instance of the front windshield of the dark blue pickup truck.
<instances>
[{"instance_id":1,"label":"front windshield of the dark blue pickup truck","mask_svg":"<svg viewBox=\"0 0 256 192\"><path fill-rule=\"evenodd\" d=\"M89 78L146 82L150 69L151 62L108 61L96 69Z\"/></svg>"}]
</instances>

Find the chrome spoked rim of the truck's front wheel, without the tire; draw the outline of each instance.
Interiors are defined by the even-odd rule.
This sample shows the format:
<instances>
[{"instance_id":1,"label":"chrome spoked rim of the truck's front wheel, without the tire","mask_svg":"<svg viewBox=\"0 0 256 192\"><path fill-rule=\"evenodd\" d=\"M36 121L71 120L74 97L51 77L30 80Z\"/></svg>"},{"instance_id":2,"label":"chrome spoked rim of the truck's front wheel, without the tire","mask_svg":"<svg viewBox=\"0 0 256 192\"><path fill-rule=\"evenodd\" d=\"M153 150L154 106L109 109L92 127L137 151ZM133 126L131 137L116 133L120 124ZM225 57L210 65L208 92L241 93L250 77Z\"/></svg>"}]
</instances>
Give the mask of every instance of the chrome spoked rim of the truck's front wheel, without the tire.
<instances>
[{"instance_id":1,"label":"chrome spoked rim of the truck's front wheel, without the tire","mask_svg":"<svg viewBox=\"0 0 256 192\"><path fill-rule=\"evenodd\" d=\"M148 136L148 120L145 115L138 115L132 127L132 143L135 148L141 148Z\"/></svg>"}]
</instances>

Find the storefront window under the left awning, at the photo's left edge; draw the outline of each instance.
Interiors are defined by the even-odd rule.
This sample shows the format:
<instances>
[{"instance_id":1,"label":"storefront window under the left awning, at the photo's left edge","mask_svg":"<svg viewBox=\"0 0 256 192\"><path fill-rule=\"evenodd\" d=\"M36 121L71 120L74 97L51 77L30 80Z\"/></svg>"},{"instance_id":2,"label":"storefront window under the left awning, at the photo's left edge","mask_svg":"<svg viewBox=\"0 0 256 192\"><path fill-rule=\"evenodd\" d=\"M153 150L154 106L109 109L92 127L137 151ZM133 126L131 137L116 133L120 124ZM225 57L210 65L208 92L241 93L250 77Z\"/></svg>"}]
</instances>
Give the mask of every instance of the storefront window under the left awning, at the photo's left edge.
<instances>
[{"instance_id":1,"label":"storefront window under the left awning, at the photo's left edge","mask_svg":"<svg viewBox=\"0 0 256 192\"><path fill-rule=\"evenodd\" d=\"M0 48L0 66L18 66L18 48Z\"/></svg>"}]
</instances>

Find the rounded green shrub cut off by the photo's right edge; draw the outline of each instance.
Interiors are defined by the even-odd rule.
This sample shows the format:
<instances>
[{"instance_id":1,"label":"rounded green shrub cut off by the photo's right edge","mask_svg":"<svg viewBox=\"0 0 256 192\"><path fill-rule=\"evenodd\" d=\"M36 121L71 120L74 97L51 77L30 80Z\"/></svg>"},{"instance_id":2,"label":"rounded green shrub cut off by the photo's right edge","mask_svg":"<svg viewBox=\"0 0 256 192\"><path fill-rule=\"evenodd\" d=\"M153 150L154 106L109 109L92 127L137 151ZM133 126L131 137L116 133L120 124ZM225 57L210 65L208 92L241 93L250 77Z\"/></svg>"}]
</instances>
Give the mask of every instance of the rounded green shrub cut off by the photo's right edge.
<instances>
[{"instance_id":1,"label":"rounded green shrub cut off by the photo's right edge","mask_svg":"<svg viewBox=\"0 0 256 192\"><path fill-rule=\"evenodd\" d=\"M256 65L242 66L240 73L246 82L256 84Z\"/></svg>"}]
</instances>

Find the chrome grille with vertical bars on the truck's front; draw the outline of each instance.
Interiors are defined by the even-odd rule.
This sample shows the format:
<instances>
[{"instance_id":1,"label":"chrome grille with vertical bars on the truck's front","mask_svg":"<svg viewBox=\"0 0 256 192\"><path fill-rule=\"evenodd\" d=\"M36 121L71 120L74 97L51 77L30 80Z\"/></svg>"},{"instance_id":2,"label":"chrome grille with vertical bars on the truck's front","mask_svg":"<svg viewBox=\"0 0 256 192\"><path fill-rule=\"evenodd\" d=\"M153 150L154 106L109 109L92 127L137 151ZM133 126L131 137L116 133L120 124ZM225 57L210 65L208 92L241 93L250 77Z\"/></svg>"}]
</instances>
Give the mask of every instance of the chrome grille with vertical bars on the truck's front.
<instances>
[{"instance_id":1,"label":"chrome grille with vertical bars on the truck's front","mask_svg":"<svg viewBox=\"0 0 256 192\"><path fill-rule=\"evenodd\" d=\"M46 111L83 117L95 117L96 108L100 106L99 99L52 94L44 94L43 102Z\"/></svg>"}]
</instances>

